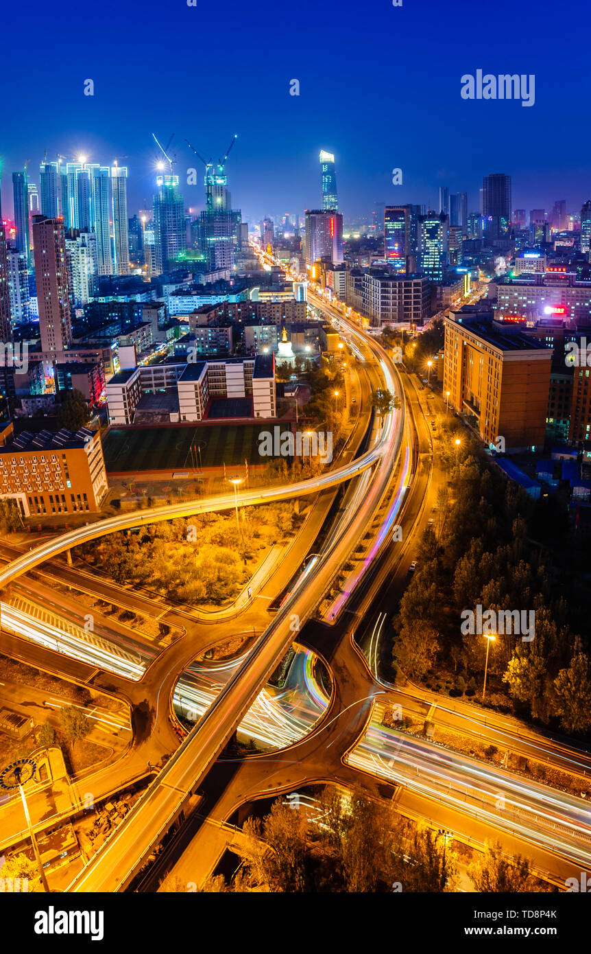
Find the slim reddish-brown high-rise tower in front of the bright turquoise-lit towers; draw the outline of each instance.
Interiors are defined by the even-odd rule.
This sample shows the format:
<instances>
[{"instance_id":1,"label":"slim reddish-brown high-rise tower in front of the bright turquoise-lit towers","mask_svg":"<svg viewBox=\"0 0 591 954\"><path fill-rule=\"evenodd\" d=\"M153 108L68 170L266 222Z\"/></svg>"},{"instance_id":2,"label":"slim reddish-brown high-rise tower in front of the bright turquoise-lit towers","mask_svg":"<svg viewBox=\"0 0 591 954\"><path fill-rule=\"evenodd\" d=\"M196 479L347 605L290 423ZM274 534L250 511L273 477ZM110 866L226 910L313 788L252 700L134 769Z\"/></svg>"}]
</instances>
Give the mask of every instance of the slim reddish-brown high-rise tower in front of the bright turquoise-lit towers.
<instances>
[{"instance_id":1,"label":"slim reddish-brown high-rise tower in front of the bright turquoise-lit towers","mask_svg":"<svg viewBox=\"0 0 591 954\"><path fill-rule=\"evenodd\" d=\"M41 350L66 351L71 345L71 295L64 222L35 216L32 234Z\"/></svg>"}]
</instances>

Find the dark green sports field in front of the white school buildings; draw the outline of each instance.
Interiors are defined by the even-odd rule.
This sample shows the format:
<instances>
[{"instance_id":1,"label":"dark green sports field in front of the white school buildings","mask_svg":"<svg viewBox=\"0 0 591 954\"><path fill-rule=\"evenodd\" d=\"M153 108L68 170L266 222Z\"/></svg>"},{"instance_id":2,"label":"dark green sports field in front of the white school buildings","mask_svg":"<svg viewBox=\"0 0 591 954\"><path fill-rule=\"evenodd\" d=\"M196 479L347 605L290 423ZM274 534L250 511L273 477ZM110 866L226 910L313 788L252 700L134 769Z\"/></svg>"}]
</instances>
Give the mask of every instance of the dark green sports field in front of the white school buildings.
<instances>
[{"instance_id":1,"label":"dark green sports field in front of the white school buildings","mask_svg":"<svg viewBox=\"0 0 591 954\"><path fill-rule=\"evenodd\" d=\"M280 425L281 430L288 425ZM103 441L105 466L111 472L138 470L185 470L199 467L228 467L263 464L258 455L258 435L269 425L222 424L211 427L113 428ZM201 457L197 446L200 449ZM268 458L267 458L268 460Z\"/></svg>"}]
</instances>

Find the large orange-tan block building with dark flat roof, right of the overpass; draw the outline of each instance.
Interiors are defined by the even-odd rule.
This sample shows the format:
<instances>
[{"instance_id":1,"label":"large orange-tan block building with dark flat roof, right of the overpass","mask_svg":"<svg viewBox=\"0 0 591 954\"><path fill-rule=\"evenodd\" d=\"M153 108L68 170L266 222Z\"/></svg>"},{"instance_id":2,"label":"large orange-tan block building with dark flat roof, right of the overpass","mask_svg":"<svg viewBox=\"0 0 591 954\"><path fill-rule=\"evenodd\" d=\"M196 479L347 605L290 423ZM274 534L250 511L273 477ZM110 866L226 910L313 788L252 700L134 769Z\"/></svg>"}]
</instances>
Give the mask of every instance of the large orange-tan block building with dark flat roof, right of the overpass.
<instances>
[{"instance_id":1,"label":"large orange-tan block building with dark flat roof, right of the overpass","mask_svg":"<svg viewBox=\"0 0 591 954\"><path fill-rule=\"evenodd\" d=\"M508 453L543 448L552 352L470 306L445 320L443 391L449 404Z\"/></svg>"}]
</instances>

